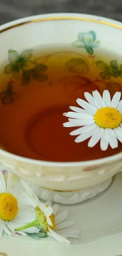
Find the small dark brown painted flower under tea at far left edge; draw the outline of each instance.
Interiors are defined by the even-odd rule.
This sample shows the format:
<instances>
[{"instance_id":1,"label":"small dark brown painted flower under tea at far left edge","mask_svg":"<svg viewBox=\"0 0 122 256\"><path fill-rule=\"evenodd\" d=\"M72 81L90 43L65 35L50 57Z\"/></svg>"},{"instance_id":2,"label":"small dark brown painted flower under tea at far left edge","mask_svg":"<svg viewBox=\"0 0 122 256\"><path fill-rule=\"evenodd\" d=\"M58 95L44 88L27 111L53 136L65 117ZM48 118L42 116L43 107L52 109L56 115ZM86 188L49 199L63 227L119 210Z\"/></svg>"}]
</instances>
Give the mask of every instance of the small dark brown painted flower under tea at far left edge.
<instances>
[{"instance_id":1,"label":"small dark brown painted flower under tea at far left edge","mask_svg":"<svg viewBox=\"0 0 122 256\"><path fill-rule=\"evenodd\" d=\"M13 92L12 83L9 82L6 91L0 93L0 99L3 105L14 103L15 99L19 99L20 96L18 93Z\"/></svg>"}]
</instances>

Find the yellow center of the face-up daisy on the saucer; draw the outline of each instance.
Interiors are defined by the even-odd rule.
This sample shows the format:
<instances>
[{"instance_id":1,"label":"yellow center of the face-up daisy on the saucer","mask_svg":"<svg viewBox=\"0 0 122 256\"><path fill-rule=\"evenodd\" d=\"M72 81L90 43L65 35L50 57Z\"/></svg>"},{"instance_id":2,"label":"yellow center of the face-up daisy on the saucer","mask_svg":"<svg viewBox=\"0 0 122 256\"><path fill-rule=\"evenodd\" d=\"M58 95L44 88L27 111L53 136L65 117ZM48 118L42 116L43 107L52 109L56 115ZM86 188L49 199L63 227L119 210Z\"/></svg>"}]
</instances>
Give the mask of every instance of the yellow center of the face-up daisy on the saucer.
<instances>
[{"instance_id":1,"label":"yellow center of the face-up daisy on the saucer","mask_svg":"<svg viewBox=\"0 0 122 256\"><path fill-rule=\"evenodd\" d=\"M18 201L9 193L0 194L0 218L4 221L13 220L18 213Z\"/></svg>"}]
</instances>

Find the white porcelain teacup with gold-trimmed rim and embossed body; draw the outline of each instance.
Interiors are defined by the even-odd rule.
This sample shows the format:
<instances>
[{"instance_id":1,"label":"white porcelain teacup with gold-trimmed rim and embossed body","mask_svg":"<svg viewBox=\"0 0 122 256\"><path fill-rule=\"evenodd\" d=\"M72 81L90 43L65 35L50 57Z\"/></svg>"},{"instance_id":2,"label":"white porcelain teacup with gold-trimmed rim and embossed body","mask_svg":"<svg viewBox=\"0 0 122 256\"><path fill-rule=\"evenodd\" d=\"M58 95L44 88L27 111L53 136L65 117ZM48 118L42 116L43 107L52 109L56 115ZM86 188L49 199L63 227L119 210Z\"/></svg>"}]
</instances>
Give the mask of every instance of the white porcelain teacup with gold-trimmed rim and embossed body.
<instances>
[{"instance_id":1,"label":"white porcelain teacup with gold-trimmed rim and embossed body","mask_svg":"<svg viewBox=\"0 0 122 256\"><path fill-rule=\"evenodd\" d=\"M83 33L84 43L77 39L79 33ZM9 49L20 53L52 44L67 44L76 52L81 48L90 56L97 54L101 47L117 55L119 61L121 34L120 22L91 15L58 13L23 18L0 27L0 61L4 63L8 59ZM94 197L110 185L111 177L122 168L122 153L98 160L59 163L32 160L1 149L0 161L35 184L33 189L41 199L75 204Z\"/></svg>"}]
</instances>

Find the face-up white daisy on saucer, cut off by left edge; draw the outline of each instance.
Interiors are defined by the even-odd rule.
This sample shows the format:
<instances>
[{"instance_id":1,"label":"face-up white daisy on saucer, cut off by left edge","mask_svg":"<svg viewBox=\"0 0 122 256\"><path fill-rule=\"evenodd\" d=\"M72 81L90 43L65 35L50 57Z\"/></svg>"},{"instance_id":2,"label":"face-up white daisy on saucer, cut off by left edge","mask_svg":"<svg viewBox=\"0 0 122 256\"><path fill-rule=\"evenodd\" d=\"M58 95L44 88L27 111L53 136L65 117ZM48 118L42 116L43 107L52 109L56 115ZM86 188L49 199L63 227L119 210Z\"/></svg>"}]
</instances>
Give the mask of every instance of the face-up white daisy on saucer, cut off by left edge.
<instances>
[{"instance_id":1,"label":"face-up white daisy on saucer, cut off by left edge","mask_svg":"<svg viewBox=\"0 0 122 256\"><path fill-rule=\"evenodd\" d=\"M30 202L30 196L21 182L12 187L11 171L8 172L7 186L0 171L0 238L3 232L12 235L15 233L15 228L34 219L35 211ZM26 229L25 232L38 233L39 229L32 227ZM27 236L25 232L18 233Z\"/></svg>"}]
</instances>

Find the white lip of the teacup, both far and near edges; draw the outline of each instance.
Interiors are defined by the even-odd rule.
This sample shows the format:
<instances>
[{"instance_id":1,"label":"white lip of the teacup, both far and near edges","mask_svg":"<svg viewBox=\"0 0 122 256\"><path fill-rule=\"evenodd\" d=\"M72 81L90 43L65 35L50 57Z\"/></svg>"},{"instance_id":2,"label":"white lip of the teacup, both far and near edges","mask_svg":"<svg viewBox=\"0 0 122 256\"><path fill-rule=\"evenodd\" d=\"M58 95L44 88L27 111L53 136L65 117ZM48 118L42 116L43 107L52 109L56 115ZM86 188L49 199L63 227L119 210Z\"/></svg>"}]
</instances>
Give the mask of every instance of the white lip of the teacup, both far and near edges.
<instances>
[{"instance_id":1,"label":"white lip of the teacup, both far and near edges","mask_svg":"<svg viewBox=\"0 0 122 256\"><path fill-rule=\"evenodd\" d=\"M74 20L75 19L78 20L78 17L79 17L79 20L81 21L97 22L99 24L104 24L117 29L122 29L122 23L120 21L112 20L102 16L82 14L82 13L50 13L50 14L28 16L28 17L24 17L21 19L17 19L17 20L13 20L11 22L5 23L0 26L0 33L3 33L14 27L24 25L26 23L46 21L46 20L65 20L65 19L68 20L68 18L69 20L71 20L71 18ZM110 157L104 157L96 160L87 160L87 161L78 161L78 162L77 161L76 162L54 162L54 161L44 161L44 160L36 160L36 159L21 157L13 153L7 152L3 149L0 149L0 155L1 154L25 163L43 165L43 166L48 165L50 167L51 166L55 166L55 167L96 166L96 165L106 164L108 162L113 162L115 160L120 160L122 158L122 153L118 153Z\"/></svg>"}]
</instances>

